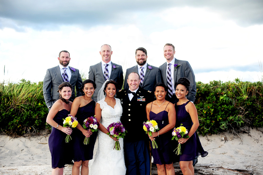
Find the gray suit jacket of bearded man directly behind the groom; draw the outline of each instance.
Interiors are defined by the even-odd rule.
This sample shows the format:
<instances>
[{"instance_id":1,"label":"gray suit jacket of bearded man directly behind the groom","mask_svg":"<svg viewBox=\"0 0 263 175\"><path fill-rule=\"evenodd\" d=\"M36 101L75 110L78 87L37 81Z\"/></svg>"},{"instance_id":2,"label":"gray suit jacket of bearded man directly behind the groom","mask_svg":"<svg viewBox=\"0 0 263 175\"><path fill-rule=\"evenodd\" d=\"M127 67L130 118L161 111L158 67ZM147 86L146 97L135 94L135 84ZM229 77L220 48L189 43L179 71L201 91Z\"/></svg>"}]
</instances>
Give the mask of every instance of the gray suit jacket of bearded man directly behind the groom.
<instances>
[{"instance_id":1,"label":"gray suit jacket of bearded man directly behind the groom","mask_svg":"<svg viewBox=\"0 0 263 175\"><path fill-rule=\"evenodd\" d=\"M143 80L143 84L142 84L142 88L147 90L147 91L151 91L151 92L154 92L154 86L157 82L160 82L160 80L157 79L157 73L159 74L160 72L158 72L158 67L155 67L155 66L151 66L152 69L148 70L148 66L149 64L147 63L147 67L146 67L146 72L145 72L145 75L144 75L144 80ZM127 79L128 79L128 75L131 73L131 72L138 72L138 66L134 66L134 67L131 67L131 68L128 68L126 70L126 75L125 75L125 79L124 79L124 89L127 89L129 88L129 85L127 83ZM140 73L139 73L140 74ZM160 76L158 76L158 78L160 78ZM141 86L141 85L140 85Z\"/></svg>"}]
</instances>

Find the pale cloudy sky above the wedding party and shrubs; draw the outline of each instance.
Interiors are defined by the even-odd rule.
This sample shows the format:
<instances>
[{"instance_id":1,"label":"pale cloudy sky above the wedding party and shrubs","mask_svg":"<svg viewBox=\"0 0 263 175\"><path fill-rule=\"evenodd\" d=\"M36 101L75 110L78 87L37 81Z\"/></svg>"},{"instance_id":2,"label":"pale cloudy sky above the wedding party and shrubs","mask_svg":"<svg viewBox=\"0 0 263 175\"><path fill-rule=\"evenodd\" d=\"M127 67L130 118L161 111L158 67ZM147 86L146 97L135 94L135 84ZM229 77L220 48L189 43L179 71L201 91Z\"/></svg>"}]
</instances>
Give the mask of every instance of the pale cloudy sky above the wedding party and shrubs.
<instances>
[{"instance_id":1,"label":"pale cloudy sky above the wedding party and shrubs","mask_svg":"<svg viewBox=\"0 0 263 175\"><path fill-rule=\"evenodd\" d=\"M62 50L88 77L103 44L124 72L136 65L138 47L159 67L166 43L191 64L197 82L261 81L262 9L261 0L1 0L0 82L43 81Z\"/></svg>"}]
</instances>

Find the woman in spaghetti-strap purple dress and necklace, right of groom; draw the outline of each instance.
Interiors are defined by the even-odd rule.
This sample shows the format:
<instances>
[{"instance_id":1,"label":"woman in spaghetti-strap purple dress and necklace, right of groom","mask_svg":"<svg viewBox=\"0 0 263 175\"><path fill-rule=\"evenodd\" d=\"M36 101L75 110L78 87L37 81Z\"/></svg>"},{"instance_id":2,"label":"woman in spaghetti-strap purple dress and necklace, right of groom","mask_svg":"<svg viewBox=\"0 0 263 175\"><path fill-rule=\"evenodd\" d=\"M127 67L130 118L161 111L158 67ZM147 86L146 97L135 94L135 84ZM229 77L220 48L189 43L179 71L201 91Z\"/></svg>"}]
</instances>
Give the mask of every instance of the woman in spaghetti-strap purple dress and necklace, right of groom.
<instances>
[{"instance_id":1,"label":"woman in spaghetti-strap purple dress and necklace, right of groom","mask_svg":"<svg viewBox=\"0 0 263 175\"><path fill-rule=\"evenodd\" d=\"M172 147L172 129L175 126L175 108L172 103L165 100L167 86L162 83L155 85L156 100L146 105L146 114L148 120L155 120L160 130L152 132L150 140L157 143L158 148L151 149L153 153L153 163L157 166L158 174L174 174L173 167L173 147ZM152 147L152 144L151 144Z\"/></svg>"}]
</instances>

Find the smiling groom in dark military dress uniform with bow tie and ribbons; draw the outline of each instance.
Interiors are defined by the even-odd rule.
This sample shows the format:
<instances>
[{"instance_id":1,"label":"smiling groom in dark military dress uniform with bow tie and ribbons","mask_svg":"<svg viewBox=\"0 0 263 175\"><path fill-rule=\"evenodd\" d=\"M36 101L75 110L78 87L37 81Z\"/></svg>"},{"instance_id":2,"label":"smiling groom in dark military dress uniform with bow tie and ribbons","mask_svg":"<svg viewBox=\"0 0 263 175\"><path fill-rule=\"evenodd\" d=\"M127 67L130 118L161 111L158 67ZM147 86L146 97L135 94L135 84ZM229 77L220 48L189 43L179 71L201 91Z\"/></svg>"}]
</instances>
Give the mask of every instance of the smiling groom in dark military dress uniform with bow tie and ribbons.
<instances>
[{"instance_id":1,"label":"smiling groom in dark military dress uniform with bow tie and ribbons","mask_svg":"<svg viewBox=\"0 0 263 175\"><path fill-rule=\"evenodd\" d=\"M149 138L143 130L143 122L147 121L146 105L154 100L154 95L142 89L140 82L139 74L131 72L127 79L129 88L116 95L123 108L121 122L128 131L124 136L126 175L150 175Z\"/></svg>"}]
</instances>

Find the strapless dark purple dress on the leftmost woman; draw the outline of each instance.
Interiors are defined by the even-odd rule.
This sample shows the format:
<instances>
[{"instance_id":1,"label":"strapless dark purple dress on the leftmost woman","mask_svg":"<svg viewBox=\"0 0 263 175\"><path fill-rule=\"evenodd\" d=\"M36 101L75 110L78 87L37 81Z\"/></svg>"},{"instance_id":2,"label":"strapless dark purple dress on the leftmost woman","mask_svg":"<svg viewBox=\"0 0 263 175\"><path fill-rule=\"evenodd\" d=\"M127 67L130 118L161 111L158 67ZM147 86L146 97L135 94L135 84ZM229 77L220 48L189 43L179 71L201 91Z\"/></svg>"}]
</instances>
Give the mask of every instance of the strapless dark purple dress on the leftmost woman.
<instances>
[{"instance_id":1,"label":"strapless dark purple dress on the leftmost woman","mask_svg":"<svg viewBox=\"0 0 263 175\"><path fill-rule=\"evenodd\" d=\"M68 117L70 112L63 109L58 111L53 120L60 126L63 126L63 119ZM64 168L67 162L70 162L71 157L68 155L68 150L71 148L70 143L65 142L67 134L52 127L49 135L49 150L51 153L52 168Z\"/></svg>"}]
</instances>

